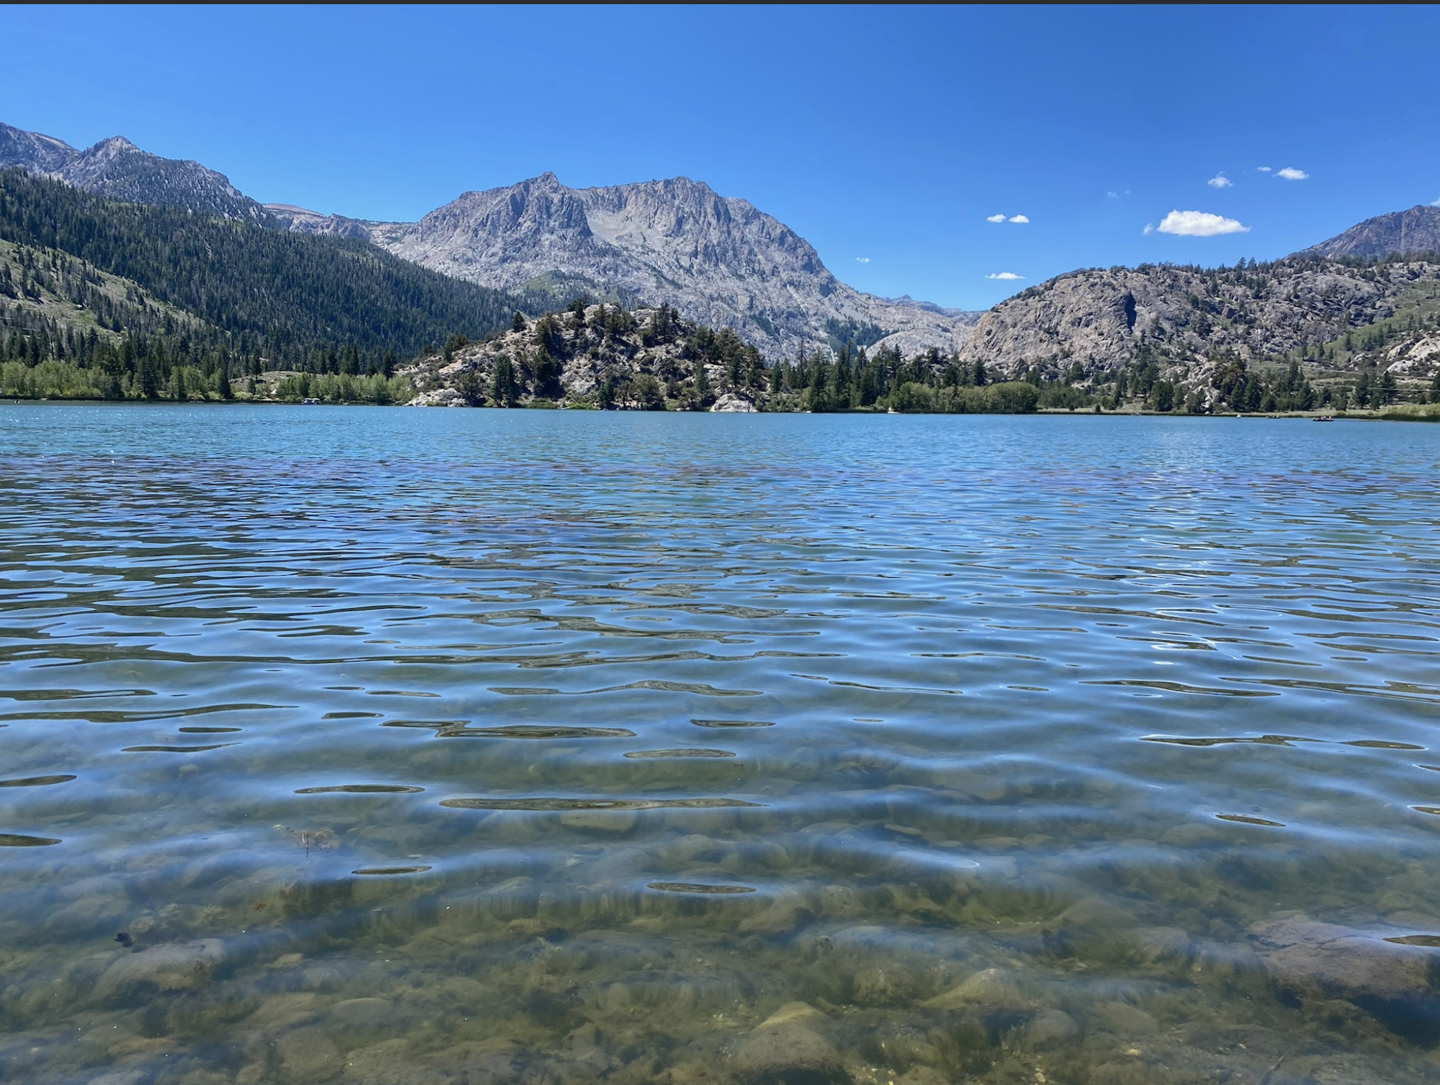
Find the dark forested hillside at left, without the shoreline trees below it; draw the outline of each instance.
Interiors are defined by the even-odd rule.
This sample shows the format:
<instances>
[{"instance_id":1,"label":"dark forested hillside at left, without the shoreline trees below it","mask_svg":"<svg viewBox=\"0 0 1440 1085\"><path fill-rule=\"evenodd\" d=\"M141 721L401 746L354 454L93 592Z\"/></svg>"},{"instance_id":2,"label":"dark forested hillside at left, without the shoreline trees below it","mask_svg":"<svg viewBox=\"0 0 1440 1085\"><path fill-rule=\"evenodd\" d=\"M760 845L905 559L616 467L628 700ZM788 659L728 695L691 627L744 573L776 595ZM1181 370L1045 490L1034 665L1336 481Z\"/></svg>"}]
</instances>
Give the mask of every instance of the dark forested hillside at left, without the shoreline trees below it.
<instances>
[{"instance_id":1,"label":"dark forested hillside at left, without the shoreline trees below it","mask_svg":"<svg viewBox=\"0 0 1440 1085\"><path fill-rule=\"evenodd\" d=\"M252 368L366 371L452 332L484 335L517 307L366 242L112 203L23 170L0 173L0 240L4 332L43 338L50 357L55 341L98 328L137 348L179 335ZM104 276L130 286L96 291Z\"/></svg>"}]
</instances>

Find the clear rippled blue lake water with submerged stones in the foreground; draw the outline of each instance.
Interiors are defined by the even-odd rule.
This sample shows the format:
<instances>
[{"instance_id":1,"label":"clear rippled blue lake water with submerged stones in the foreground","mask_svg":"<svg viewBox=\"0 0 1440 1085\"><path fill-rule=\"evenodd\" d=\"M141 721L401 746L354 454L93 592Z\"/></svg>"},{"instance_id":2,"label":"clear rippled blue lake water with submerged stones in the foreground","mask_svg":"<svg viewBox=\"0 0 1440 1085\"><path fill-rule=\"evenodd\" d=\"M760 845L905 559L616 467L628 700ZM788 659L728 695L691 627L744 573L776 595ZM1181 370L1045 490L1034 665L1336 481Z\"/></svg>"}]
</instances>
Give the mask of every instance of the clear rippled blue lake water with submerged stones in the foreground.
<instances>
[{"instance_id":1,"label":"clear rippled blue lake water with submerged stones in the foreground","mask_svg":"<svg viewBox=\"0 0 1440 1085\"><path fill-rule=\"evenodd\" d=\"M0 1076L1423 1081L1437 468L0 404Z\"/></svg>"}]
</instances>

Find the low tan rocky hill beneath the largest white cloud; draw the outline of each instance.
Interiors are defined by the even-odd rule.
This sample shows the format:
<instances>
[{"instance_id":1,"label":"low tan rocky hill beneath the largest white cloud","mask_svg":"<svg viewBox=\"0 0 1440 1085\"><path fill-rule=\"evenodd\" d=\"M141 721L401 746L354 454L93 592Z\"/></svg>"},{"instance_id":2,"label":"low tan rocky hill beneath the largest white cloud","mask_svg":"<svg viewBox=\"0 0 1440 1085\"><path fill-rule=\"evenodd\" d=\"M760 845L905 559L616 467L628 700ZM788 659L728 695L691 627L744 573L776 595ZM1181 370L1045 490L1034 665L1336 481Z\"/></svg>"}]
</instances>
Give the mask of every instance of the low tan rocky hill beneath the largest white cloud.
<instances>
[{"instance_id":1,"label":"low tan rocky hill beneath the largest white cloud","mask_svg":"<svg viewBox=\"0 0 1440 1085\"><path fill-rule=\"evenodd\" d=\"M1103 378L1143 358L1197 381L1221 354L1346 368L1381 341L1423 334L1437 309L1440 265L1424 260L1092 269L996 305L959 354L1008 376L1038 370L1050 378ZM1428 376L1420 370L1417 378Z\"/></svg>"}]
</instances>

